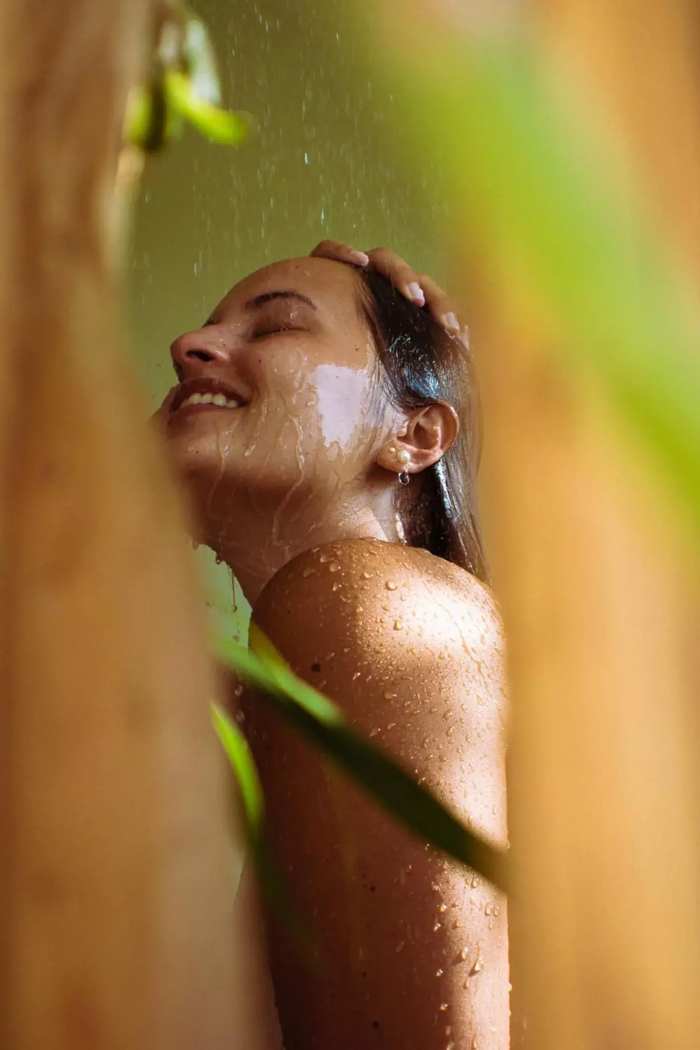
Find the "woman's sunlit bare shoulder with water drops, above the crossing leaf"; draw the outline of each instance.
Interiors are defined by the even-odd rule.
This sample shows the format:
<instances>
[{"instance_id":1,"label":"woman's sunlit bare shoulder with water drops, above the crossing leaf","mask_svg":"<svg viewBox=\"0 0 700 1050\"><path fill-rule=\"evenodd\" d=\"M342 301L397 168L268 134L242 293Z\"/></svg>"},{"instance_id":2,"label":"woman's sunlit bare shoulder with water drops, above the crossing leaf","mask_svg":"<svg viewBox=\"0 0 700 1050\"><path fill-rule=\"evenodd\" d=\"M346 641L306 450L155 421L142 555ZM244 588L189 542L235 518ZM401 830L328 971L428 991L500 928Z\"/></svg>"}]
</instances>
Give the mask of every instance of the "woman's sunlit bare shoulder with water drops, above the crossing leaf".
<instances>
[{"instance_id":1,"label":"woman's sunlit bare shoulder with water drops, above the crossing leaf","mask_svg":"<svg viewBox=\"0 0 700 1050\"><path fill-rule=\"evenodd\" d=\"M297 674L503 840L504 647L488 588L427 551L342 541L289 563L254 618ZM465 802L469 771L480 791Z\"/></svg>"}]
</instances>

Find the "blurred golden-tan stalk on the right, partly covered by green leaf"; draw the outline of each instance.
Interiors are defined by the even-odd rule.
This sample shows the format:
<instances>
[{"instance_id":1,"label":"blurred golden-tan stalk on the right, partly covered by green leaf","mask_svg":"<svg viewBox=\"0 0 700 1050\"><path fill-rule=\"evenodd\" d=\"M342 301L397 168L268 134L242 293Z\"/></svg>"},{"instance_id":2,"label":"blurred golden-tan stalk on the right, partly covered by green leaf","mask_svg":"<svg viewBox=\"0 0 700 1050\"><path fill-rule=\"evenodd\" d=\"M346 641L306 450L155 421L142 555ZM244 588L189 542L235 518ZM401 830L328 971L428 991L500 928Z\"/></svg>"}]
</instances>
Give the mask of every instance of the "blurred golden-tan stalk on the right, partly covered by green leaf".
<instances>
[{"instance_id":1,"label":"blurred golden-tan stalk on the right, partly covered by green leaf","mask_svg":"<svg viewBox=\"0 0 700 1050\"><path fill-rule=\"evenodd\" d=\"M448 155L445 135L459 149L465 133L460 107L483 100L450 94L447 80L436 89L427 56L442 49L451 62L462 34L468 63L522 26L506 5L496 24L486 3L393 6L380 48L411 92L407 138ZM521 8L518 19L551 62L553 90L570 90L575 66L697 278L697 15L681 0L543 0L536 14ZM480 352L487 534L510 638L513 1045L691 1050L700 1031L697 538L595 370L567 366L558 303L537 296L518 265L523 246L489 227L479 193L465 193L471 174L452 183L453 257Z\"/></svg>"}]
</instances>

